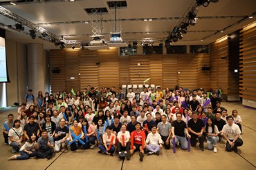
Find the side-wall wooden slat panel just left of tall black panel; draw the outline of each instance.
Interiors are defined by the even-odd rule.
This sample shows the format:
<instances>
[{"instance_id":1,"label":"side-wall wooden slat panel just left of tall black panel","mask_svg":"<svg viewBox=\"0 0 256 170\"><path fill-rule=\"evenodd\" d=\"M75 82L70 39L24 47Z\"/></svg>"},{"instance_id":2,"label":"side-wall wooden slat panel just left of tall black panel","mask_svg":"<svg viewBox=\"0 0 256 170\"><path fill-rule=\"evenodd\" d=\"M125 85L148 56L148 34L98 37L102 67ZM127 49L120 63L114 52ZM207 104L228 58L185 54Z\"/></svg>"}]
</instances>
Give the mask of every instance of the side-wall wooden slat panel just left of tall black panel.
<instances>
[{"instance_id":1,"label":"side-wall wooden slat panel just left of tall black panel","mask_svg":"<svg viewBox=\"0 0 256 170\"><path fill-rule=\"evenodd\" d=\"M223 94L228 94L229 71L227 37L210 44L210 67L210 87L212 89L221 88Z\"/></svg>"}]
</instances>

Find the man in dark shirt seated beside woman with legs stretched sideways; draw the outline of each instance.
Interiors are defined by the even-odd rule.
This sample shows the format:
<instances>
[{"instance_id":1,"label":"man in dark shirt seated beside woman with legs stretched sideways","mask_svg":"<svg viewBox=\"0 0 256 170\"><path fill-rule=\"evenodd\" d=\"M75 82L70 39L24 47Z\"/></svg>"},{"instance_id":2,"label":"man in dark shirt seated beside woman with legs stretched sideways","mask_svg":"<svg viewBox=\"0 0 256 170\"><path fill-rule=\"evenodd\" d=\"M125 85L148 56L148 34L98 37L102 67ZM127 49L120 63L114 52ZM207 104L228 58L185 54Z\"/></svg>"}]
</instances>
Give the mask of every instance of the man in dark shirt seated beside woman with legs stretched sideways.
<instances>
[{"instance_id":1,"label":"man in dark shirt seated beside woman with legs stretched sideways","mask_svg":"<svg viewBox=\"0 0 256 170\"><path fill-rule=\"evenodd\" d=\"M35 142L35 156L37 158L52 158L54 150L53 138L48 135L46 129L42 130L42 136Z\"/></svg>"}]
</instances>

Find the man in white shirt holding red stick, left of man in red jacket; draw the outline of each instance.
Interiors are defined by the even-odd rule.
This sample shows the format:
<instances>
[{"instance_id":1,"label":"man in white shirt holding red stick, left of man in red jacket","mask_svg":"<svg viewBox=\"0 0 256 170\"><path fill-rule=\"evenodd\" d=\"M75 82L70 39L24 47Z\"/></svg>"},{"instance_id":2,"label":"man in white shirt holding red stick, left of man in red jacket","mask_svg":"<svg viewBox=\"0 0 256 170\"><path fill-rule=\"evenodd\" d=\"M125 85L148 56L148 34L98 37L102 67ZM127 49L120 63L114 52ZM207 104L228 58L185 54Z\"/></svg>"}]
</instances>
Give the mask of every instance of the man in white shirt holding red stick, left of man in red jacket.
<instances>
[{"instance_id":1,"label":"man in white shirt holding red stick, left of man in red jacket","mask_svg":"<svg viewBox=\"0 0 256 170\"><path fill-rule=\"evenodd\" d=\"M127 152L131 147L131 142L129 141L131 137L130 137L129 131L126 130L126 125L122 125L121 131L118 132L117 138L118 138L118 154L119 154L118 158L125 159ZM125 139L125 140L122 141L122 139ZM124 153L122 153L122 151L124 151Z\"/></svg>"}]
</instances>

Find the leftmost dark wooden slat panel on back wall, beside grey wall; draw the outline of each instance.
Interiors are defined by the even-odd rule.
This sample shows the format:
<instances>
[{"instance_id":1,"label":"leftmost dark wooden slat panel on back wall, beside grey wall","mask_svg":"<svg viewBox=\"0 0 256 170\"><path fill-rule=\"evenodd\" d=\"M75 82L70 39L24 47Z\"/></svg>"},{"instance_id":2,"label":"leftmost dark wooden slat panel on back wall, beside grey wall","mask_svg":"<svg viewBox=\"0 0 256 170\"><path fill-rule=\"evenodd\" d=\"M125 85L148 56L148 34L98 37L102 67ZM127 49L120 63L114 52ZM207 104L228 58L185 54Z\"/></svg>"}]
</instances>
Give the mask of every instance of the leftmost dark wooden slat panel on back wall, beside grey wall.
<instances>
[{"instance_id":1,"label":"leftmost dark wooden slat panel on back wall, beside grey wall","mask_svg":"<svg viewBox=\"0 0 256 170\"><path fill-rule=\"evenodd\" d=\"M58 68L60 73L53 73L55 68ZM50 51L50 85L53 93L66 89L65 52L63 50Z\"/></svg>"}]
</instances>

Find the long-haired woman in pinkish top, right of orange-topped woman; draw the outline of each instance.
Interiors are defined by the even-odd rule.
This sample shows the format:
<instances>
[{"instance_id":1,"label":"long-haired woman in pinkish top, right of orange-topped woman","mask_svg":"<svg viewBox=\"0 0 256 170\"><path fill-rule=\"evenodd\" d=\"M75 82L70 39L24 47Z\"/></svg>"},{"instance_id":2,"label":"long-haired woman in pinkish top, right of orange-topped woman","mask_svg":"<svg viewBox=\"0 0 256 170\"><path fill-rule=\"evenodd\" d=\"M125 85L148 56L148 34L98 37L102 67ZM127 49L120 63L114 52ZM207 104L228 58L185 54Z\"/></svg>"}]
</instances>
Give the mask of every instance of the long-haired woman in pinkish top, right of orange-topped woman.
<instances>
[{"instance_id":1,"label":"long-haired woman in pinkish top, right of orange-topped woman","mask_svg":"<svg viewBox=\"0 0 256 170\"><path fill-rule=\"evenodd\" d=\"M86 132L84 132L84 127L86 127ZM88 138L88 143L86 143L86 149L93 149L95 147L95 140L96 140L96 134L95 134L95 128L93 125L89 125L88 121L86 118L82 120L82 131L84 132L84 142L86 142L85 136ZM91 145L91 147L90 147Z\"/></svg>"}]
</instances>

